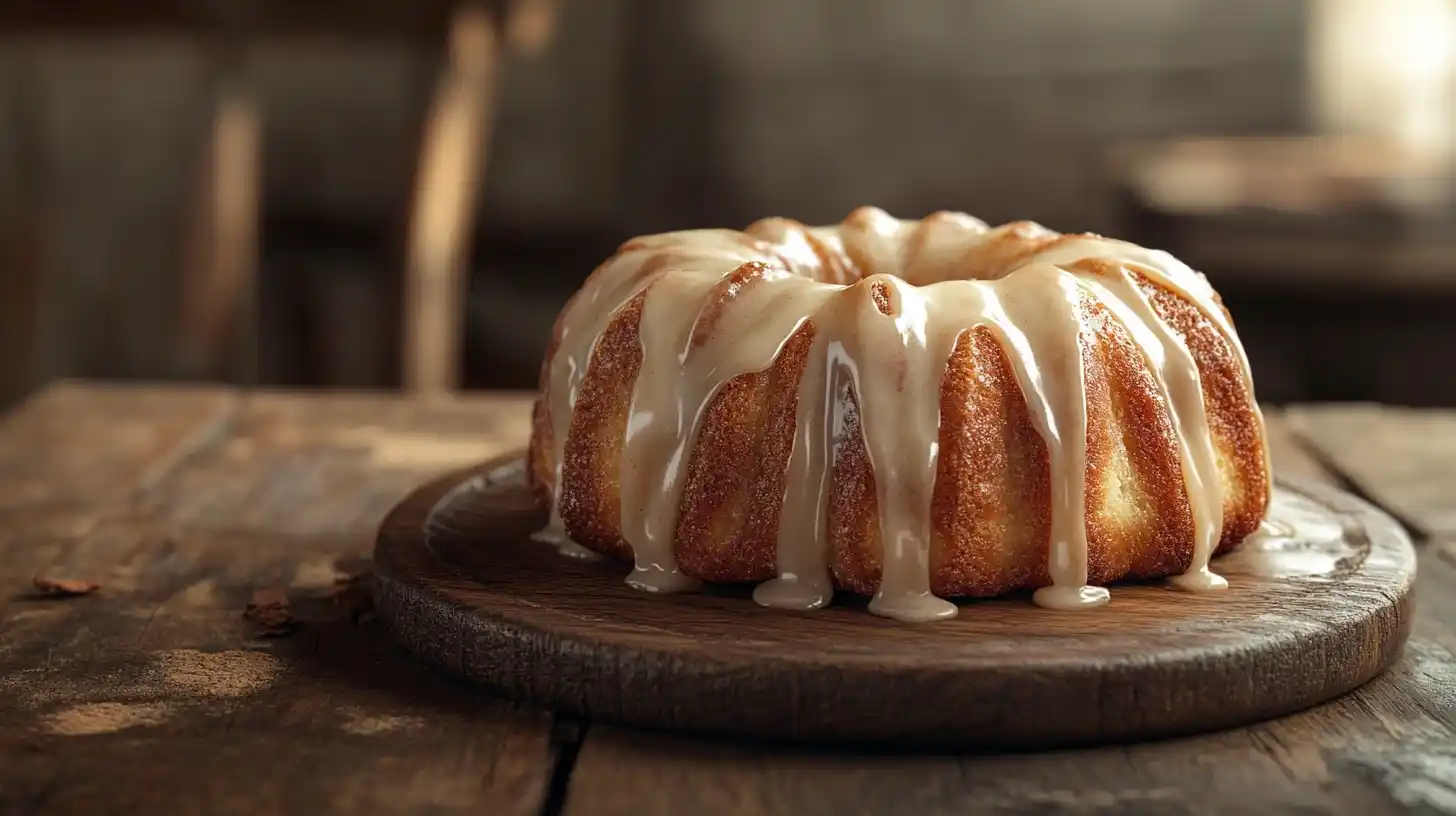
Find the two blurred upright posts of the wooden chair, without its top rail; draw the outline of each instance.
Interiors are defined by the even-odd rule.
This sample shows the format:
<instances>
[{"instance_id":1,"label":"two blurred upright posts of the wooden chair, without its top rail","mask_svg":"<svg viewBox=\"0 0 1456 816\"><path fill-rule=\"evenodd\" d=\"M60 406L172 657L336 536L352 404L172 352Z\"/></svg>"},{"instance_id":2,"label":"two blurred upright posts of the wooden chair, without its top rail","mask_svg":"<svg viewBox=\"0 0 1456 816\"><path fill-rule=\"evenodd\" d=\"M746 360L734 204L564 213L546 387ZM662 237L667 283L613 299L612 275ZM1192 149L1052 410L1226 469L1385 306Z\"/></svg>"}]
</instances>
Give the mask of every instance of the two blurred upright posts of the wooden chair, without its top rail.
<instances>
[{"instance_id":1,"label":"two blurred upright posts of the wooden chair, without its top rail","mask_svg":"<svg viewBox=\"0 0 1456 816\"><path fill-rule=\"evenodd\" d=\"M464 1L451 16L447 57L427 114L402 281L400 377L408 393L459 389L466 265L489 152L504 57L534 55L552 41L558 0ZM182 293L178 348L183 370L255 373L248 353L258 277L262 125L236 70L249 26L232 22L218 48L217 106L197 192L192 264Z\"/></svg>"}]
</instances>

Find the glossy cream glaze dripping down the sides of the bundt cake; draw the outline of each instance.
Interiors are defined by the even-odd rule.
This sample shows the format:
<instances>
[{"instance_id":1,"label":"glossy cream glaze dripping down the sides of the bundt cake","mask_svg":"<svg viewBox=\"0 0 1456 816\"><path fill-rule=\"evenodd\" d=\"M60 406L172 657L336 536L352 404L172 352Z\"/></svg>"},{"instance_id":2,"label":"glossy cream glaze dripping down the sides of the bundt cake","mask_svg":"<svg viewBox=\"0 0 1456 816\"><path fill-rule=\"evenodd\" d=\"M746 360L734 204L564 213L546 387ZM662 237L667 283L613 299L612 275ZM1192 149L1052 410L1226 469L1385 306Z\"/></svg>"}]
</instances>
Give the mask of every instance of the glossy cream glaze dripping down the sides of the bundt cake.
<instances>
[{"instance_id":1,"label":"glossy cream glaze dripping down the sides of the bundt cake","mask_svg":"<svg viewBox=\"0 0 1456 816\"><path fill-rule=\"evenodd\" d=\"M1224 485L1198 369L1134 275L1198 307L1236 351L1252 395L1243 348L1203 275L1165 252L1125 242L1057 235L1025 221L992 229L960 213L906 221L869 207L834 227L766 219L745 232L635 239L593 274L561 321L547 370L556 490L549 523L536 538L566 554L582 549L568 539L559 509L572 408L596 340L625 303L646 291L642 363L619 472L622 538L635 560L628 583L648 592L695 589L699 581L678 570L673 539L705 411L719 388L766 370L812 321L778 527L778 577L760 584L754 599L812 609L833 595L824 519L833 440L843 418L834 395L850 385L875 471L884 545L869 609L901 621L951 618L957 606L930 592L939 395L957 340L984 326L1006 350L1050 456L1051 584L1034 599L1053 609L1105 603L1108 590L1088 584L1085 525L1088 411L1079 303L1091 294L1144 354L1178 440L1194 546L1190 567L1171 583L1194 592L1222 589L1226 583L1208 561L1223 530ZM713 307L725 302L731 307Z\"/></svg>"}]
</instances>

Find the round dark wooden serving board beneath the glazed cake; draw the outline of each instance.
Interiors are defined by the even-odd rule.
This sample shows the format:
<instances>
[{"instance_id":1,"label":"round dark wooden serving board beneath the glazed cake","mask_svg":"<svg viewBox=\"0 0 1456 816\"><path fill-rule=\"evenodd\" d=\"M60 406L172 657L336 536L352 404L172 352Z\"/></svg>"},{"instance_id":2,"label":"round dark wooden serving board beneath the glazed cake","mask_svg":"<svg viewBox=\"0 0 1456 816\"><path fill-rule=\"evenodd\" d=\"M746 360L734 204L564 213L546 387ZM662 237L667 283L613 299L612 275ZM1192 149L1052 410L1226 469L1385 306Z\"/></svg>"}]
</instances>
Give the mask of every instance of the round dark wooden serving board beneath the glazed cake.
<instances>
[{"instance_id":1,"label":"round dark wooden serving board beneath the glazed cake","mask_svg":"<svg viewBox=\"0 0 1456 816\"><path fill-rule=\"evenodd\" d=\"M530 541L545 511L501 476L505 462L441 478L390 513L379 613L447 672L606 721L957 748L1153 739L1338 697L1385 670L1411 627L1405 532L1313 484L1281 482L1280 500L1328 510L1332 541L1216 561L1227 592L1114 586L1109 605L1079 612L1019 595L911 625L855 599L783 612L748 587L633 590L625 564Z\"/></svg>"}]
</instances>

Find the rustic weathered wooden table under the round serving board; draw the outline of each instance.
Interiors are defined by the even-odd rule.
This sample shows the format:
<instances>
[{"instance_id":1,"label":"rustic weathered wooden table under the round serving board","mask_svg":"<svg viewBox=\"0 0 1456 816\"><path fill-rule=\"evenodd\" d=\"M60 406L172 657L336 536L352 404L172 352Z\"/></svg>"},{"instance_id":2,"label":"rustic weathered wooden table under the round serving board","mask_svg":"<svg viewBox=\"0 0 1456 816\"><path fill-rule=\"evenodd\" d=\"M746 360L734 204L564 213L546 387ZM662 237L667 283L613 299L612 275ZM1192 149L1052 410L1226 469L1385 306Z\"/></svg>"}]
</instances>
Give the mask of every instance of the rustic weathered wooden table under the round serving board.
<instances>
[{"instance_id":1,"label":"rustic weathered wooden table under the round serving board","mask_svg":"<svg viewBox=\"0 0 1456 816\"><path fill-rule=\"evenodd\" d=\"M527 407L58 385L16 409L0 423L0 810L1456 813L1456 412L1268 412L1278 469L1364 494L1418 541L1415 634L1390 673L1249 729L954 756L563 721L355 621L339 560L367 557L430 475L521 444ZM100 589L38 599L38 574ZM301 621L288 637L242 618L268 587Z\"/></svg>"}]
</instances>

